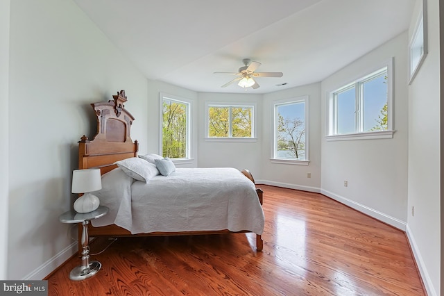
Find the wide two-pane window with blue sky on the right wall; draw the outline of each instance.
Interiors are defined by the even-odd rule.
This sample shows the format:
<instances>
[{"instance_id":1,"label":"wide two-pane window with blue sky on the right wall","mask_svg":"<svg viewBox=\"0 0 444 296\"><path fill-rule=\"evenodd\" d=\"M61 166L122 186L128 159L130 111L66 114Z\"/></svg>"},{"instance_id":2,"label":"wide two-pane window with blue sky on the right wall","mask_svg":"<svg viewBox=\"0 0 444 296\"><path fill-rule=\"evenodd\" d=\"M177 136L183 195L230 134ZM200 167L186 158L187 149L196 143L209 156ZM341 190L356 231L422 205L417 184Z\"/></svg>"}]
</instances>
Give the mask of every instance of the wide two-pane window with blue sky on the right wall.
<instances>
[{"instance_id":1,"label":"wide two-pane window with blue sky on the right wall","mask_svg":"<svg viewBox=\"0 0 444 296\"><path fill-rule=\"evenodd\" d=\"M391 63L330 92L327 140L392 138Z\"/></svg>"}]
</instances>

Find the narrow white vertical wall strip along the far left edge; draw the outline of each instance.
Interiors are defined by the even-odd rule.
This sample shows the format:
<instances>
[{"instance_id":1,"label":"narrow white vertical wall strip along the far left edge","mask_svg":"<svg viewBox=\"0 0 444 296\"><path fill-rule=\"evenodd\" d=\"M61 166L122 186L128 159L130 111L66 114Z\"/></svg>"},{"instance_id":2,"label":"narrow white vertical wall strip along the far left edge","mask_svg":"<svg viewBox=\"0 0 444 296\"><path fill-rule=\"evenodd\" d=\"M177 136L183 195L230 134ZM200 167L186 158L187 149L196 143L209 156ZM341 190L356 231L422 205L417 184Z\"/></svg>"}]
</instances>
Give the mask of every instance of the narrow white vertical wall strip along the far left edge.
<instances>
[{"instance_id":1,"label":"narrow white vertical wall strip along the far left edge","mask_svg":"<svg viewBox=\"0 0 444 296\"><path fill-rule=\"evenodd\" d=\"M9 159L9 21L10 0L0 1L0 106L3 112L0 118L0 155ZM9 162L0 166L0 279L6 279L8 259L8 170Z\"/></svg>"}]
</instances>

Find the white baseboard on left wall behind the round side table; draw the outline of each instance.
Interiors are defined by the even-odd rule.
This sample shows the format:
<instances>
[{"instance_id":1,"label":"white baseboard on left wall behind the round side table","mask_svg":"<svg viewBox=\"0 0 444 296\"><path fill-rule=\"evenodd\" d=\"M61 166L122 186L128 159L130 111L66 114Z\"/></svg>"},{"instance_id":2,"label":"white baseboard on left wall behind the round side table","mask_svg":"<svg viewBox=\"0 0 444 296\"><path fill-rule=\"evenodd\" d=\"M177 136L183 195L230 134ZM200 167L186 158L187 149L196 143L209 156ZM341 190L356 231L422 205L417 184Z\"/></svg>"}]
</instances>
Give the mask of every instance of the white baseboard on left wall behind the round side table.
<instances>
[{"instance_id":1,"label":"white baseboard on left wall behind the round side table","mask_svg":"<svg viewBox=\"0 0 444 296\"><path fill-rule=\"evenodd\" d=\"M65 247L65 249L62 249L61 252L56 254L56 256L53 256L53 258L49 259L42 265L40 265L39 268L35 269L30 274L26 275L24 277L24 281L40 281L41 279L44 279L48 274L56 270L60 265L62 265L65 261L67 261L71 256L76 254L78 251L78 243L73 242L68 247ZM79 261L80 264L80 261Z\"/></svg>"}]
</instances>

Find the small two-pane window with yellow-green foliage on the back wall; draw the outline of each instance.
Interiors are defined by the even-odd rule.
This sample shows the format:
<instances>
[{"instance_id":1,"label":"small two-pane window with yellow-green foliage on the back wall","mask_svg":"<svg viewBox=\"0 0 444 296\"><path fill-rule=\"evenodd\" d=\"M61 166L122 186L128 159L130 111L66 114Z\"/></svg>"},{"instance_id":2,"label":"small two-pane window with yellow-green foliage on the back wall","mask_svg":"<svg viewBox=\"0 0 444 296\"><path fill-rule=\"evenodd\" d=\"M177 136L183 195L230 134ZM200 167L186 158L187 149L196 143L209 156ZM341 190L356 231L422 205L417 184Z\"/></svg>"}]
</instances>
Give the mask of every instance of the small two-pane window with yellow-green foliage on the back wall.
<instances>
[{"instance_id":1,"label":"small two-pane window with yellow-green foliage on the back wall","mask_svg":"<svg viewBox=\"0 0 444 296\"><path fill-rule=\"evenodd\" d=\"M254 106L207 103L207 140L253 139Z\"/></svg>"}]
</instances>

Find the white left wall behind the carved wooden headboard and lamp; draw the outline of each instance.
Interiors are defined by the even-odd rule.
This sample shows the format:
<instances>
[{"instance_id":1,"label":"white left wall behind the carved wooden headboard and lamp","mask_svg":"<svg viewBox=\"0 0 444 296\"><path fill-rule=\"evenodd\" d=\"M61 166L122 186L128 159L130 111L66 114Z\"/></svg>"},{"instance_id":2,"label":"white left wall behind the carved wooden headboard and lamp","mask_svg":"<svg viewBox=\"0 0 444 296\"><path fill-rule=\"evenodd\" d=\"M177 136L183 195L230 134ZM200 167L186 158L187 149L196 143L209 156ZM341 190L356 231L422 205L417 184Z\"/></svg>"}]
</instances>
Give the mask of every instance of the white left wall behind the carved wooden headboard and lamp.
<instances>
[{"instance_id":1,"label":"white left wall behind the carved wooden headboard and lamp","mask_svg":"<svg viewBox=\"0 0 444 296\"><path fill-rule=\"evenodd\" d=\"M3 8L8 5L2 1L2 21ZM89 104L126 90L126 108L136 118L132 138L146 147L148 92L144 76L74 2L11 1L10 9L9 112L4 112L9 141L2 141L9 143L10 167L8 186L0 186L9 187L6 277L42 279L76 249L71 225L60 223L58 215L74 200L69 192L76 142L96 131ZM7 38L1 34L1 40Z\"/></svg>"}]
</instances>

